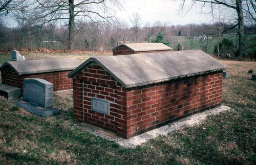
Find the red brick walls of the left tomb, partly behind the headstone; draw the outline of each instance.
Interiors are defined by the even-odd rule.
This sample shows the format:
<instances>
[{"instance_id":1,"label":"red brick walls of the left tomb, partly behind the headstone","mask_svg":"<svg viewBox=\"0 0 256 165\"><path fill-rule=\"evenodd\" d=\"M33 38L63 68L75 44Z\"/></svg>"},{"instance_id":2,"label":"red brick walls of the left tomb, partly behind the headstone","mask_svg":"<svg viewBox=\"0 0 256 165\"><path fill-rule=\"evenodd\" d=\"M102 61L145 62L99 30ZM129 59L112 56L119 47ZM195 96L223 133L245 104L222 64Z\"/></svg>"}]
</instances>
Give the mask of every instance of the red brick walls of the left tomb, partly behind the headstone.
<instances>
[{"instance_id":1,"label":"red brick walls of the left tomb, partly behind the headstone","mask_svg":"<svg viewBox=\"0 0 256 165\"><path fill-rule=\"evenodd\" d=\"M54 91L72 89L72 78L68 78L70 71L31 74L18 76L14 69L6 65L1 69L2 83L17 86L23 92L23 82L26 78L39 78L53 83Z\"/></svg>"}]
</instances>

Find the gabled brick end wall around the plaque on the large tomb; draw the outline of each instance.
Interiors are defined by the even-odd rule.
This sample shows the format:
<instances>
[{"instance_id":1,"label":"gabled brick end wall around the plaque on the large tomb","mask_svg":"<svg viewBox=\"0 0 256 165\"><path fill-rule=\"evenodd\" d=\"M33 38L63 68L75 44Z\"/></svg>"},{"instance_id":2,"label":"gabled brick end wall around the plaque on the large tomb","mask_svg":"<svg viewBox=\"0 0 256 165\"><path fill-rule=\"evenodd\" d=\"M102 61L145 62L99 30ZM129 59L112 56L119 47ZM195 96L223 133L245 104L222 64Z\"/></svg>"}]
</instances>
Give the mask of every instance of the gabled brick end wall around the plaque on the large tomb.
<instances>
[{"instance_id":1,"label":"gabled brick end wall around the plaque on the large tomb","mask_svg":"<svg viewBox=\"0 0 256 165\"><path fill-rule=\"evenodd\" d=\"M78 121L118 132L122 114L126 106L120 95L120 86L112 76L100 66L93 65L82 70L73 79L74 115ZM91 110L91 98L110 101L110 115Z\"/></svg>"}]
</instances>

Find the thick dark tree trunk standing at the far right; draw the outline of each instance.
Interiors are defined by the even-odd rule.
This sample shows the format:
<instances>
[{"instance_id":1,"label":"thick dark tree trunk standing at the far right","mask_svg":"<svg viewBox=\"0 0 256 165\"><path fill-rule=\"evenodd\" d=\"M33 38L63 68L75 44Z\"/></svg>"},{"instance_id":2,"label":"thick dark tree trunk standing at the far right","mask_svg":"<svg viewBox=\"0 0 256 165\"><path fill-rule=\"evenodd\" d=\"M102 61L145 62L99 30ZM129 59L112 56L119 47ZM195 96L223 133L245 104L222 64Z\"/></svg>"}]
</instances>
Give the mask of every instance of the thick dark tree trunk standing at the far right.
<instances>
[{"instance_id":1,"label":"thick dark tree trunk standing at the far right","mask_svg":"<svg viewBox=\"0 0 256 165\"><path fill-rule=\"evenodd\" d=\"M242 0L236 0L236 10L238 13L238 58L244 57L244 14Z\"/></svg>"}]
</instances>

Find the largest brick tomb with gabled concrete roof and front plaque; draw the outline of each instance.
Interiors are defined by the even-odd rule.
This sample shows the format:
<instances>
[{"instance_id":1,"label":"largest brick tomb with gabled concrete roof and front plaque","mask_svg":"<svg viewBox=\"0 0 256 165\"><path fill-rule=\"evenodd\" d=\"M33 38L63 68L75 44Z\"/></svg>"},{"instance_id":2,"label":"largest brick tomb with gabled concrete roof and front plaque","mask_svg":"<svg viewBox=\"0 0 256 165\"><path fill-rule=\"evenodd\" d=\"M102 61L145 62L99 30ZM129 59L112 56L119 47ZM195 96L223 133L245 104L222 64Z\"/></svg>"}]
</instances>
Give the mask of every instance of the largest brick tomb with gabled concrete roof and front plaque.
<instances>
[{"instance_id":1,"label":"largest brick tomb with gabled concrete roof and front plaque","mask_svg":"<svg viewBox=\"0 0 256 165\"><path fill-rule=\"evenodd\" d=\"M220 105L223 69L201 50L89 58L68 75L74 116L130 138Z\"/></svg>"}]
</instances>

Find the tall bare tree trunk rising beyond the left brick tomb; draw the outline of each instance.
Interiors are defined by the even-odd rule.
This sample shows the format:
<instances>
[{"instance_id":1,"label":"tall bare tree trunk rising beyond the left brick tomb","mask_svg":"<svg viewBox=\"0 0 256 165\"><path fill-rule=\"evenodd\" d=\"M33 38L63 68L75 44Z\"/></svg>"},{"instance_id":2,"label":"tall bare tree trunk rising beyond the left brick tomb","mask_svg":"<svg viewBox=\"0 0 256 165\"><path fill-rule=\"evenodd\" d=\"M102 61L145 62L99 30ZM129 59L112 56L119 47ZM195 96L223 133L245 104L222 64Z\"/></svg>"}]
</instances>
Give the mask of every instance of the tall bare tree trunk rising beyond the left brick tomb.
<instances>
[{"instance_id":1,"label":"tall bare tree trunk rising beyond the left brick tomb","mask_svg":"<svg viewBox=\"0 0 256 165\"><path fill-rule=\"evenodd\" d=\"M74 50L74 25L75 25L75 15L74 15L74 0L69 0L69 40L68 49Z\"/></svg>"}]
</instances>

